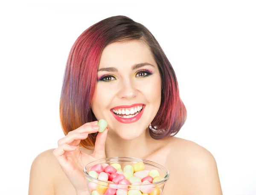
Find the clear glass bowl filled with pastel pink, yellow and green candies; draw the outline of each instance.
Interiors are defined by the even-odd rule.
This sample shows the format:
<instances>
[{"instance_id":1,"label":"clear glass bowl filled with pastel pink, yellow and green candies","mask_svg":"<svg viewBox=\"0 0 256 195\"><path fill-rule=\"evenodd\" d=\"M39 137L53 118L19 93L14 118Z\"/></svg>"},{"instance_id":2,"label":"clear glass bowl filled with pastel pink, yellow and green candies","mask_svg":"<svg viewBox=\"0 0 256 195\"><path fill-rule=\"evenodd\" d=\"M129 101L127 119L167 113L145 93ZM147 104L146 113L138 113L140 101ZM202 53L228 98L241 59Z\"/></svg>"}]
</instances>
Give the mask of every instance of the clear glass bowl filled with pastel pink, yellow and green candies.
<instances>
[{"instance_id":1,"label":"clear glass bowl filled with pastel pink, yellow and green candies","mask_svg":"<svg viewBox=\"0 0 256 195\"><path fill-rule=\"evenodd\" d=\"M84 176L90 195L161 195L169 172L152 161L113 157L87 164Z\"/></svg>"}]
</instances>

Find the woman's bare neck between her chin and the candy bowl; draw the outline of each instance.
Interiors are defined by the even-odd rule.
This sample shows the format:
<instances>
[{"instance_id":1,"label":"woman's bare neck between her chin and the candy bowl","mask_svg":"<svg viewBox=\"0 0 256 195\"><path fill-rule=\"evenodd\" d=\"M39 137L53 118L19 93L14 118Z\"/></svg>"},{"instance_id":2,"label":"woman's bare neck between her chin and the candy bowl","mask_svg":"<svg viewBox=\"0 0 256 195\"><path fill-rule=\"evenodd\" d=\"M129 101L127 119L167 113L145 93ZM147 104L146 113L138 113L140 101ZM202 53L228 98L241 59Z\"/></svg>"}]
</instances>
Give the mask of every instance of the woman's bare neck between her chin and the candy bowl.
<instances>
[{"instance_id":1,"label":"woman's bare neck between her chin and the candy bowl","mask_svg":"<svg viewBox=\"0 0 256 195\"><path fill-rule=\"evenodd\" d=\"M155 147L152 144L153 141L154 139L150 137L147 130L133 140L124 140L116 134L108 132L105 143L106 157L146 158Z\"/></svg>"}]
</instances>

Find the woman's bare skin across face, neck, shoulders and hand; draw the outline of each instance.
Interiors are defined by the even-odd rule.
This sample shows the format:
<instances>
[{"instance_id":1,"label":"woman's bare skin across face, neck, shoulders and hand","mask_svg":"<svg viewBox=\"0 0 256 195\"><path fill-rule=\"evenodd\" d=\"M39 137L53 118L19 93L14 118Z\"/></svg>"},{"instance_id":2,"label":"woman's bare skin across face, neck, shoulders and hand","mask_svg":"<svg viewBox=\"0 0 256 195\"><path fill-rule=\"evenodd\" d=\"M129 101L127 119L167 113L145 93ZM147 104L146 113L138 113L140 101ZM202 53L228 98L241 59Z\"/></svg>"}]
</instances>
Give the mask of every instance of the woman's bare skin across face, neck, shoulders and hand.
<instances>
[{"instance_id":1,"label":"woman's bare skin across face, neck, shoulders and hand","mask_svg":"<svg viewBox=\"0 0 256 195\"><path fill-rule=\"evenodd\" d=\"M145 62L153 66L132 70L134 64ZM77 146L88 133L97 131L90 123L59 140L57 149L39 154L31 166L29 195L88 195L78 190L79 182L84 179L82 163L113 156L143 158L165 166L170 178L164 195L222 195L217 165L207 149L177 137L154 140L148 135L147 126L157 114L161 98L160 74L148 46L138 40L112 43L103 50L99 63L99 69L107 67L115 67L118 71L98 72L98 77L111 74L114 78L108 77L110 82L97 82L92 109L96 118L108 121L108 129L99 133L94 150ZM145 68L153 74L148 77L137 74ZM137 122L120 123L110 112L115 106L133 103L145 104ZM71 149L70 145L77 147ZM72 161L76 155L86 162ZM76 177L71 173L76 173Z\"/></svg>"}]
</instances>

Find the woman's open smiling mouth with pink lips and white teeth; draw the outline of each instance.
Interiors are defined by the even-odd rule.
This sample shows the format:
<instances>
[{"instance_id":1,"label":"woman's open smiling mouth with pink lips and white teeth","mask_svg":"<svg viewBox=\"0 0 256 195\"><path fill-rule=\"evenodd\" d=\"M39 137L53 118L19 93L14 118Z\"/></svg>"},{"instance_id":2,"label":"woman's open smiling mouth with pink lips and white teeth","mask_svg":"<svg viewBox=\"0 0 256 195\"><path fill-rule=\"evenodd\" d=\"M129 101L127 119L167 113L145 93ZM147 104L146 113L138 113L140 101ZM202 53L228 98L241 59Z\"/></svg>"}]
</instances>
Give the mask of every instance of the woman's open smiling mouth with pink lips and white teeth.
<instances>
[{"instance_id":1,"label":"woman's open smiling mouth with pink lips and white teeth","mask_svg":"<svg viewBox=\"0 0 256 195\"><path fill-rule=\"evenodd\" d=\"M134 123L140 119L145 104L133 104L131 106L117 106L111 109L113 116L121 123Z\"/></svg>"}]
</instances>

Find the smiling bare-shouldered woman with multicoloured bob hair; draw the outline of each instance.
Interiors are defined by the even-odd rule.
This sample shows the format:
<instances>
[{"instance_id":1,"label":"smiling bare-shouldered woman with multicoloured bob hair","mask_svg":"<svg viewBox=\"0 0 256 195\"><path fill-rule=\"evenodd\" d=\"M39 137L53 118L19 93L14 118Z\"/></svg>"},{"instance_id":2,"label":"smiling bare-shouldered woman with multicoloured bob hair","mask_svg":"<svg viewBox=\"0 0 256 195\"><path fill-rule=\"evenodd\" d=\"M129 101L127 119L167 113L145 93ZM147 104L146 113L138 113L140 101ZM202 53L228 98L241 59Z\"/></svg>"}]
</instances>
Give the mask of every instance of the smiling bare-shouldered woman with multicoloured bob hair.
<instances>
[{"instance_id":1,"label":"smiling bare-shouldered woman with multicoloured bob hair","mask_svg":"<svg viewBox=\"0 0 256 195\"><path fill-rule=\"evenodd\" d=\"M172 66L154 36L125 16L109 17L74 43L60 100L66 135L32 163L29 195L88 195L82 169L106 157L154 161L170 172L164 195L221 195L215 159L176 138L186 120ZM108 127L97 133L97 121Z\"/></svg>"}]
</instances>

